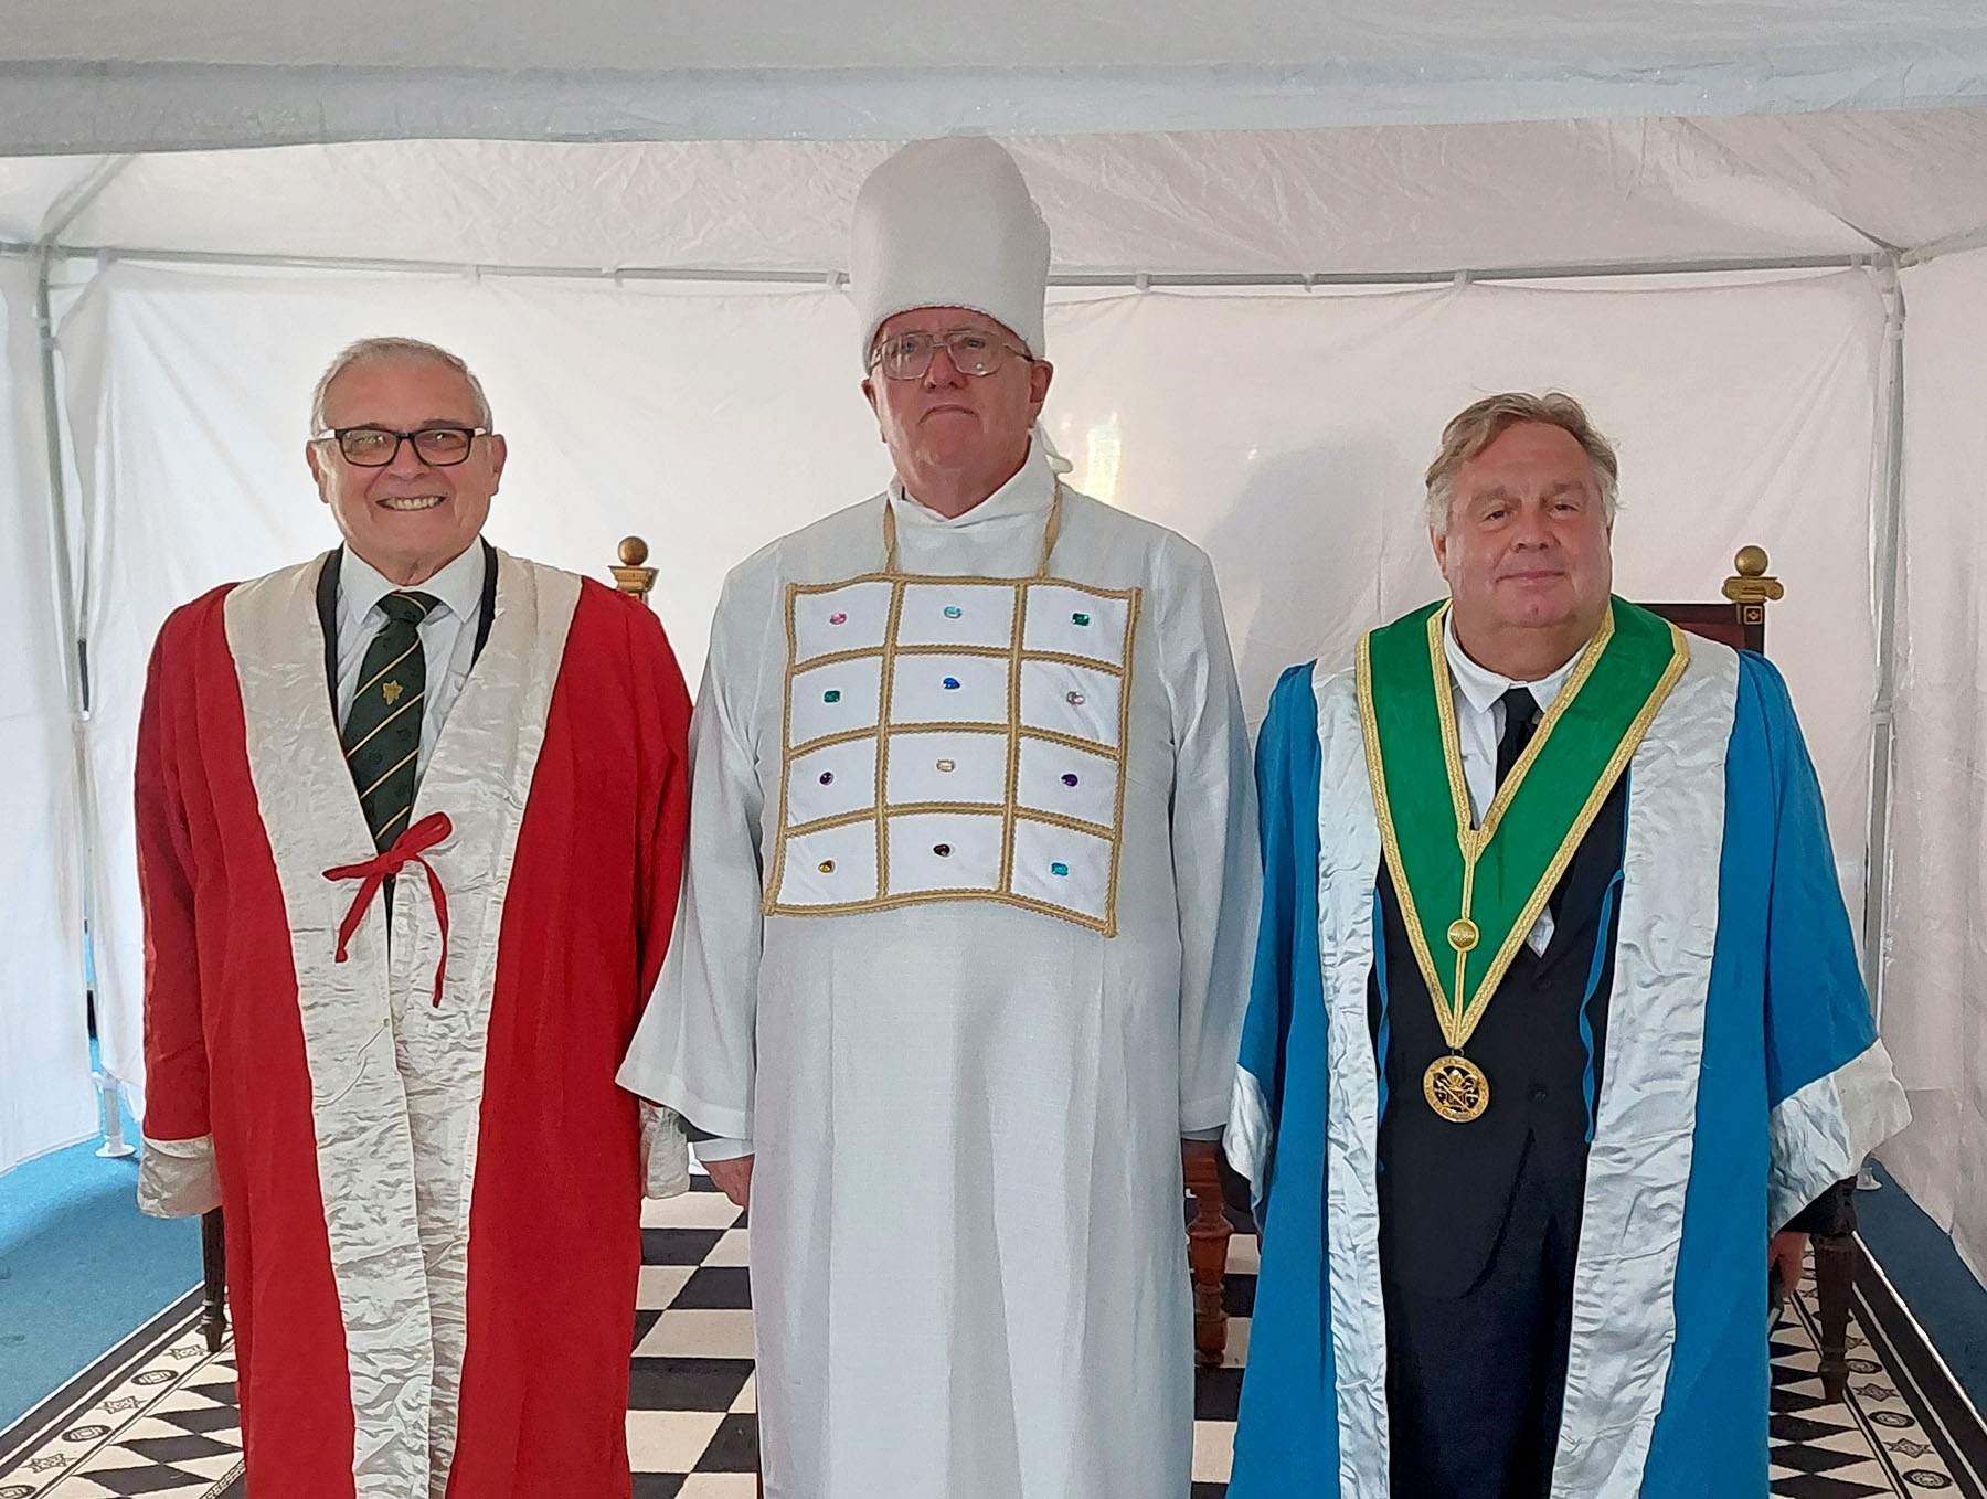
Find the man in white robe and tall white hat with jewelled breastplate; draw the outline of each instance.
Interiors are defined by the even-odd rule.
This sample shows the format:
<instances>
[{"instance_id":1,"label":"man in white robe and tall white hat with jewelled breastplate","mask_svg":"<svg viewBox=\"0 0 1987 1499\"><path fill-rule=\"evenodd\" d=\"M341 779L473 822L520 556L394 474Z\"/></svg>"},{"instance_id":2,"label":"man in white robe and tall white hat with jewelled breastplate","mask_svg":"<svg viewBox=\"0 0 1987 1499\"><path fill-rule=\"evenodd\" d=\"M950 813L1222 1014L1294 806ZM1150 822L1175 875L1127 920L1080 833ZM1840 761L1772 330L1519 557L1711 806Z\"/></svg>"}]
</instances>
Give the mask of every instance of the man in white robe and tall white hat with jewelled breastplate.
<instances>
[{"instance_id":1,"label":"man in white robe and tall white hat with jewelled breastplate","mask_svg":"<svg viewBox=\"0 0 1987 1499\"><path fill-rule=\"evenodd\" d=\"M890 487L725 583L678 944L622 1068L751 1203L771 1499L1184 1499L1180 1139L1258 857L1208 559L1063 485L990 141L864 185ZM1033 435L1031 435L1033 433Z\"/></svg>"}]
</instances>

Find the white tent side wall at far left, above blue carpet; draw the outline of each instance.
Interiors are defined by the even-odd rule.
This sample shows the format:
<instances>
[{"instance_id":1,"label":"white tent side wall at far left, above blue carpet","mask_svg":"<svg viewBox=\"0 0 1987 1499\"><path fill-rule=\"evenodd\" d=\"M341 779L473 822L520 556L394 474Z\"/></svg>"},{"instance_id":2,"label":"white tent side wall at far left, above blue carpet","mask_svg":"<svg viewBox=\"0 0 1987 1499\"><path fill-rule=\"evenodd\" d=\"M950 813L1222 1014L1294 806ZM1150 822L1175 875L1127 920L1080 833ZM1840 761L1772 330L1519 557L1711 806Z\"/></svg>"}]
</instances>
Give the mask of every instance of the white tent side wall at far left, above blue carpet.
<instances>
[{"instance_id":1,"label":"white tent side wall at far left, above blue carpet","mask_svg":"<svg viewBox=\"0 0 1987 1499\"><path fill-rule=\"evenodd\" d=\"M0 1171L95 1129L34 282L0 260Z\"/></svg>"}]
</instances>

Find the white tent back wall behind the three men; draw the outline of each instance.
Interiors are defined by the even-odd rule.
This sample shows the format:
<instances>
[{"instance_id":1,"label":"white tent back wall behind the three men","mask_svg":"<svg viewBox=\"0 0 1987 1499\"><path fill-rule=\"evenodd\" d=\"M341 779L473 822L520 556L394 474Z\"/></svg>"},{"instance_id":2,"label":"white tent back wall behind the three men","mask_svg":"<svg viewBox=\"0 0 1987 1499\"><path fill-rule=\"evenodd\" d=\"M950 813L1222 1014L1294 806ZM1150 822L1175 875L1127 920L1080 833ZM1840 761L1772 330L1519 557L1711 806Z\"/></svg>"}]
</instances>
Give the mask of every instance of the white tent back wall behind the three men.
<instances>
[{"instance_id":1,"label":"white tent back wall behind the three men","mask_svg":"<svg viewBox=\"0 0 1987 1499\"><path fill-rule=\"evenodd\" d=\"M1880 298L1862 272L1391 292L1067 294L1047 425L1073 481L1214 557L1252 716L1276 672L1343 658L1439 590L1421 469L1480 394L1558 386L1621 447L1617 588L1715 598L1760 543L1772 612L1860 903L1874 688ZM483 376L511 465L505 547L604 577L642 533L691 678L719 581L888 475L835 290L167 270L119 262L68 314L83 469L105 1054L139 1056L131 746L151 638L207 586L336 541L310 487L326 358L403 332Z\"/></svg>"}]
</instances>

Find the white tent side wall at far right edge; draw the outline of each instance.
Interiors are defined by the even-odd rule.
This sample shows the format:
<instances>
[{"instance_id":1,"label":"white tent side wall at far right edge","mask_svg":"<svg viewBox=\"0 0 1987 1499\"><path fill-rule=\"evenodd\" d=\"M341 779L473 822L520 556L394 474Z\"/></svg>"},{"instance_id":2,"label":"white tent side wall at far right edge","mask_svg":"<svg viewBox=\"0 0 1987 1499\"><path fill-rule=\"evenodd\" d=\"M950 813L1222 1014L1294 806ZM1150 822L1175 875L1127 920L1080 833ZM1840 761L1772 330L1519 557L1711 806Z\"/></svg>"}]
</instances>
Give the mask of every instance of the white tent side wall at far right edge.
<instances>
[{"instance_id":1,"label":"white tent side wall at far right edge","mask_svg":"<svg viewBox=\"0 0 1987 1499\"><path fill-rule=\"evenodd\" d=\"M1884 1151L1987 1280L1987 250L1904 272L1906 511Z\"/></svg>"}]
</instances>

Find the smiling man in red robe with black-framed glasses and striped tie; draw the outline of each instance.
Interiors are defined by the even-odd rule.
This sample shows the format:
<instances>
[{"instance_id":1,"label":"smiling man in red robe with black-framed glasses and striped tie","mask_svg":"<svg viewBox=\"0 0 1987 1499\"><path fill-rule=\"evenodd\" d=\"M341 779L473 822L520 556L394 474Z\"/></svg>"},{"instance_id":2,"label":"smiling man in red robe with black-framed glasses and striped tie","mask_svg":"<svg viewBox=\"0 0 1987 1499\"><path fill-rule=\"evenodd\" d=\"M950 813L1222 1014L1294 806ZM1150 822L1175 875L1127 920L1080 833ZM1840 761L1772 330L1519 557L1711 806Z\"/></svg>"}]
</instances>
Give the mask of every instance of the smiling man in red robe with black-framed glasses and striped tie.
<instances>
[{"instance_id":1,"label":"smiling man in red robe with black-framed glasses and striped tie","mask_svg":"<svg viewBox=\"0 0 1987 1499\"><path fill-rule=\"evenodd\" d=\"M626 1499L640 1199L684 1159L614 1068L688 694L642 604L481 541L461 360L354 344L312 429L344 547L151 660L139 1203L227 1211L254 1493Z\"/></svg>"}]
</instances>

